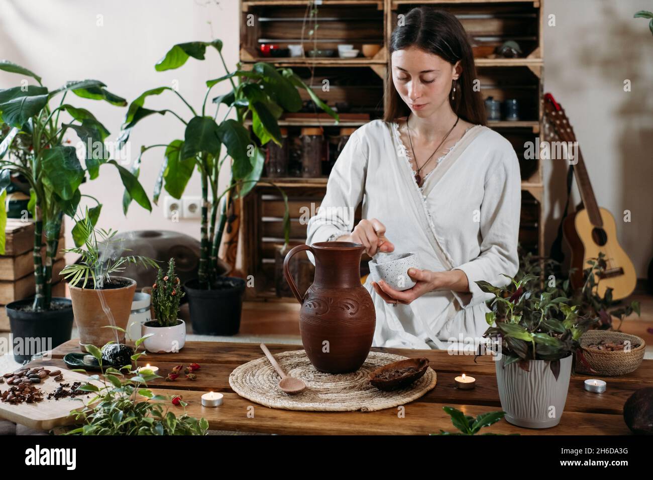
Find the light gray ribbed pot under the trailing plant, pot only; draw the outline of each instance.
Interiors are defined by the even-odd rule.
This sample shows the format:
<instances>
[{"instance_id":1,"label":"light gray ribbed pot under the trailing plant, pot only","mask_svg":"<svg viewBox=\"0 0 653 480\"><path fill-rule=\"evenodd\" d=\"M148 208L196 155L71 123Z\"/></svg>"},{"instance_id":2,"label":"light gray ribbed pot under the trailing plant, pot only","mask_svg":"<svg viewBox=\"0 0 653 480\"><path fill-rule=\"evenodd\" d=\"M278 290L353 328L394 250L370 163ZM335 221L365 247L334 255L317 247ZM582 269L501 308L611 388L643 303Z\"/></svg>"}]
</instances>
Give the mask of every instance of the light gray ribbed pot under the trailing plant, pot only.
<instances>
[{"instance_id":1,"label":"light gray ribbed pot under the trailing plant, pot only","mask_svg":"<svg viewBox=\"0 0 653 480\"><path fill-rule=\"evenodd\" d=\"M560 423L573 356L560 359L558 380L548 360L530 360L530 372L526 372L517 362L504 367L505 358L496 362L496 384L505 420L526 428L550 428Z\"/></svg>"}]
</instances>

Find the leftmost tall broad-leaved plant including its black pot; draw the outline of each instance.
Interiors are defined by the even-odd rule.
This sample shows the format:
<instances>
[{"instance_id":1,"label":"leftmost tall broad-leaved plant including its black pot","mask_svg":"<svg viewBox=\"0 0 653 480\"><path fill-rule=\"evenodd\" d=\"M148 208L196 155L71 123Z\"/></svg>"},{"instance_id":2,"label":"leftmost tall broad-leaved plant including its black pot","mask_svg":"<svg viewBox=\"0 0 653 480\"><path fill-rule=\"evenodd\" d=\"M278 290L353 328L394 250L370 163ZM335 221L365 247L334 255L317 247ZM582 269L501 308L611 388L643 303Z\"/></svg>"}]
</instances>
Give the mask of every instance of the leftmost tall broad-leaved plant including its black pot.
<instances>
[{"instance_id":1,"label":"leftmost tall broad-leaved plant including its black pot","mask_svg":"<svg viewBox=\"0 0 653 480\"><path fill-rule=\"evenodd\" d=\"M80 193L80 184L87 178L97 178L101 165L114 165L131 198L148 210L150 200L135 176L109 159L104 146L109 132L104 125L88 110L65 103L70 92L117 106L126 105L125 99L107 91L99 80L66 82L59 88L48 89L40 76L10 61L0 60L0 70L22 76L17 86L0 89L0 201L5 203L5 189L12 178L22 176L29 185L25 193L30 197L28 210L35 222L35 296L8 304L7 315L14 344L21 338L52 338L52 347L56 347L71 338L72 330L71 301L52 298L52 264L61 222L64 214L74 216L82 197L95 200ZM27 78L33 78L38 85L29 85ZM65 140L65 135L69 131L74 131L84 143L84 165L76 148L67 145L70 140ZM91 209L95 220L101 210L97 203ZM5 253L5 221L5 208L0 208L0 255ZM75 229L72 233L79 240ZM30 357L29 352L14 352L18 362Z\"/></svg>"}]
</instances>

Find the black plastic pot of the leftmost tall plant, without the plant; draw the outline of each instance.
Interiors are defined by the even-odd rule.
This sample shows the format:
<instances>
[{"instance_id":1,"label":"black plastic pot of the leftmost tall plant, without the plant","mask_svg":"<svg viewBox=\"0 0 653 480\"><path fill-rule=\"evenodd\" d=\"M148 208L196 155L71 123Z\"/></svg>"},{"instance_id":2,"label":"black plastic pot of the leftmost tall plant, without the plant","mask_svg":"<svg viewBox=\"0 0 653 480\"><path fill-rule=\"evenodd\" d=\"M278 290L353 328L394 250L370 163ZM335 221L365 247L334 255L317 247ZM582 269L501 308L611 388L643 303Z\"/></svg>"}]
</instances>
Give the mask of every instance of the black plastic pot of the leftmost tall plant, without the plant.
<instances>
[{"instance_id":1,"label":"black plastic pot of the leftmost tall plant, without the plant","mask_svg":"<svg viewBox=\"0 0 653 480\"><path fill-rule=\"evenodd\" d=\"M7 305L11 334L14 338L14 360L23 363L32 355L57 347L72 335L72 302L70 298L52 298L53 304L65 304L65 308L47 312L25 312L20 310L31 305L33 298L25 298Z\"/></svg>"}]
</instances>

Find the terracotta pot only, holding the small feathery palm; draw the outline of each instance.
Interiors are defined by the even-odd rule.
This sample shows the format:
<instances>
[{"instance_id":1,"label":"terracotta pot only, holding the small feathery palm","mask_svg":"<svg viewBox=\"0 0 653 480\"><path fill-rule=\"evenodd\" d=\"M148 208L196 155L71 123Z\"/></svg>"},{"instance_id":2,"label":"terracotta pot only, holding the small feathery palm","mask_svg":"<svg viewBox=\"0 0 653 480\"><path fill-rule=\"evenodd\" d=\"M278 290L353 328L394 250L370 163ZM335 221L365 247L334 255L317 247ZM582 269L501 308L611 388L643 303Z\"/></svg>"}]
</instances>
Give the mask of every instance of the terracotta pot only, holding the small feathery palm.
<instances>
[{"instance_id":1,"label":"terracotta pot only, holding the small feathery palm","mask_svg":"<svg viewBox=\"0 0 653 480\"><path fill-rule=\"evenodd\" d=\"M69 285L72 299L72 312L80 334L80 346L93 344L101 348L106 342L114 340L125 342L125 334L106 325L127 329L131 304L136 290L136 281L125 277L112 277L115 280L129 281L129 285L118 289L82 289ZM103 310L103 301L106 312ZM113 317L112 323L110 317Z\"/></svg>"}]
</instances>

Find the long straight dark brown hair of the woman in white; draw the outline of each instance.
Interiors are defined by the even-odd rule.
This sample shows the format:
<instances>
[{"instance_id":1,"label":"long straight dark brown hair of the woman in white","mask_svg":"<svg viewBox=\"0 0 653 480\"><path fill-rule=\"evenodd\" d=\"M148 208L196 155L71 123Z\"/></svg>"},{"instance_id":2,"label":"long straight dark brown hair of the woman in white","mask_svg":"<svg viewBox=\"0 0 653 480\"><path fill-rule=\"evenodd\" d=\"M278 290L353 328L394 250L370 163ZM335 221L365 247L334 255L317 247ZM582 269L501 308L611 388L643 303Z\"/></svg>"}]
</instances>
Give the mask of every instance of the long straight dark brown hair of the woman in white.
<instances>
[{"instance_id":1,"label":"long straight dark brown hair of the woman in white","mask_svg":"<svg viewBox=\"0 0 653 480\"><path fill-rule=\"evenodd\" d=\"M472 82L476 78L474 56L465 29L458 19L444 10L432 7L416 7L404 17L404 22L392 31L389 54L415 46L429 54L435 54L455 65L460 60L462 72L456 80L454 99L449 95L451 109L463 120L485 125L485 105L480 91L474 91ZM390 62L392 57L390 57ZM399 96L392 82L392 68L388 70L385 82L388 103L383 120L394 121L407 116L410 109Z\"/></svg>"}]
</instances>

